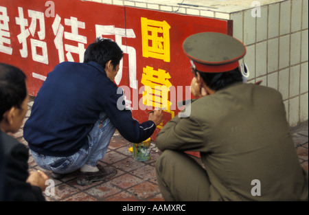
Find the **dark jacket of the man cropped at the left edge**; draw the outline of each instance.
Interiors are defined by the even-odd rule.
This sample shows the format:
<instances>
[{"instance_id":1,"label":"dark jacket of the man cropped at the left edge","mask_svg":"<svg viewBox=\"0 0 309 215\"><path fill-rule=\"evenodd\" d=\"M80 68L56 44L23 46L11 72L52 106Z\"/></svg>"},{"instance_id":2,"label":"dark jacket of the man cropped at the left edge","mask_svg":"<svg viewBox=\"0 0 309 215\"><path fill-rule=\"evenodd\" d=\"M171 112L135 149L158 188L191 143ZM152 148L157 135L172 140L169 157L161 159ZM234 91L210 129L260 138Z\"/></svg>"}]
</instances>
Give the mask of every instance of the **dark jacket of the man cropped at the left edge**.
<instances>
[{"instance_id":1,"label":"dark jacket of the man cropped at the left edge","mask_svg":"<svg viewBox=\"0 0 309 215\"><path fill-rule=\"evenodd\" d=\"M9 199L4 201L45 201L41 188L26 183L29 177L29 150L16 139L0 131L4 152L5 188Z\"/></svg>"}]
</instances>

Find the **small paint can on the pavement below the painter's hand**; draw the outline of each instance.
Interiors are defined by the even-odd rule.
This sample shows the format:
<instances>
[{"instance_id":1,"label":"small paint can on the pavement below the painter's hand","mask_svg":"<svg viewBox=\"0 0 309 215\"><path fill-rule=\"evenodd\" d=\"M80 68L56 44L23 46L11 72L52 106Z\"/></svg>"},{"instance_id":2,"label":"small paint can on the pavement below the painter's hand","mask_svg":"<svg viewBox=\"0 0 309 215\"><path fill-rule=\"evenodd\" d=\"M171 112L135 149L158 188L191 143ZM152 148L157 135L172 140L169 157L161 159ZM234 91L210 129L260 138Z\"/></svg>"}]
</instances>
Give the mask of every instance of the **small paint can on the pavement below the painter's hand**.
<instances>
[{"instance_id":1,"label":"small paint can on the pavement below the painter's hand","mask_svg":"<svg viewBox=\"0 0 309 215\"><path fill-rule=\"evenodd\" d=\"M135 161L148 161L150 159L150 137L141 143L133 143L133 159Z\"/></svg>"}]
</instances>

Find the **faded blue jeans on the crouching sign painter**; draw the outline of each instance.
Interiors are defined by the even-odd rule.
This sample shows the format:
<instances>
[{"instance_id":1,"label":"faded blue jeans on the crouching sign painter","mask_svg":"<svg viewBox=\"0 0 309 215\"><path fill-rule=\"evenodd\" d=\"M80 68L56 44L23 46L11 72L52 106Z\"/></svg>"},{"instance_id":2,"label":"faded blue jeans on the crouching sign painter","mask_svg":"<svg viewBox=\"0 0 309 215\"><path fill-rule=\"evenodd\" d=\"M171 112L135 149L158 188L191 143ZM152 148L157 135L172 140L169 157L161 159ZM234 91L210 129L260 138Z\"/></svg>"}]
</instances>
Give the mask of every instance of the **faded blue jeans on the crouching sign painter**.
<instances>
[{"instance_id":1,"label":"faded blue jeans on the crouching sign painter","mask_svg":"<svg viewBox=\"0 0 309 215\"><path fill-rule=\"evenodd\" d=\"M102 127L100 128L100 124ZM74 172L85 163L89 166L96 166L106 153L111 137L115 133L115 126L104 112L100 113L99 120L95 122L88 134L88 144L85 143L78 152L69 157L52 157L38 154L31 150L34 161L45 170L58 174Z\"/></svg>"}]
</instances>

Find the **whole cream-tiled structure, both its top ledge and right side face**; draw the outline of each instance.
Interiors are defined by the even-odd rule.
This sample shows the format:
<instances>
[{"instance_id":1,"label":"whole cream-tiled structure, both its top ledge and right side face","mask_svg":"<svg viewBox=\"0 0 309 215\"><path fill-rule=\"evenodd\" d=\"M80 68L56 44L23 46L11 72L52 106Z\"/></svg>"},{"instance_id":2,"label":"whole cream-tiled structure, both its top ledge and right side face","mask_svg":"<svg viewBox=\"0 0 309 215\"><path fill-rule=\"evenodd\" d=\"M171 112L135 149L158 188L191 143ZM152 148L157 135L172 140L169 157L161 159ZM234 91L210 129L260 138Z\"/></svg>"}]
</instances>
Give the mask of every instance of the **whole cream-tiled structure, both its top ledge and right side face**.
<instances>
[{"instance_id":1,"label":"whole cream-tiled structure, both its top ledge and right side face","mask_svg":"<svg viewBox=\"0 0 309 215\"><path fill-rule=\"evenodd\" d=\"M184 1L195 7L179 0L88 1L233 20L233 36L247 46L249 82L263 80L282 93L291 126L308 120L308 0L261 0L260 17L251 14L253 0Z\"/></svg>"}]
</instances>

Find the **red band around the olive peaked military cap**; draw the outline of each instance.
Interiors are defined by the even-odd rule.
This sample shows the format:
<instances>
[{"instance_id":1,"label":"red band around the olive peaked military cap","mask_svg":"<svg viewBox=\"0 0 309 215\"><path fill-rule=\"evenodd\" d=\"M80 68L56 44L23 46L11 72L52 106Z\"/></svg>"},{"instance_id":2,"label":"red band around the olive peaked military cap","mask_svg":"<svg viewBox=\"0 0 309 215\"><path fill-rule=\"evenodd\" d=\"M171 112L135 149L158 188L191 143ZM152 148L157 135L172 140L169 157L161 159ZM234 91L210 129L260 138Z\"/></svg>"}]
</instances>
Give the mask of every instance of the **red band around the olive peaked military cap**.
<instances>
[{"instance_id":1,"label":"red band around the olive peaked military cap","mask_svg":"<svg viewBox=\"0 0 309 215\"><path fill-rule=\"evenodd\" d=\"M203 72L224 72L236 69L239 66L238 60L224 65L205 65L194 61L194 65L198 71Z\"/></svg>"}]
</instances>

